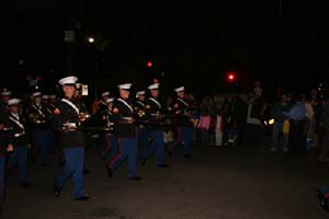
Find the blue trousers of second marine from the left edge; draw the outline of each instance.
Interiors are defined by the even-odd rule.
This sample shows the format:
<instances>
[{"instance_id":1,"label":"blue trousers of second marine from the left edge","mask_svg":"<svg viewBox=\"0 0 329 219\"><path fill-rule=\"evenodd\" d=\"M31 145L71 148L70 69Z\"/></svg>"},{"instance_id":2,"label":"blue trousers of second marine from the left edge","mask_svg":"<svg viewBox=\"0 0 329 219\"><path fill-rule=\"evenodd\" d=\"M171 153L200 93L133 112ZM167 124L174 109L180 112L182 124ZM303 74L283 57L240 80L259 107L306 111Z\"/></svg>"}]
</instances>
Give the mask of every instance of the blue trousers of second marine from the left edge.
<instances>
[{"instance_id":1,"label":"blue trousers of second marine from the left edge","mask_svg":"<svg viewBox=\"0 0 329 219\"><path fill-rule=\"evenodd\" d=\"M9 153L9 171L19 166L19 183L26 182L27 173L27 145L16 146L15 150Z\"/></svg>"}]
</instances>

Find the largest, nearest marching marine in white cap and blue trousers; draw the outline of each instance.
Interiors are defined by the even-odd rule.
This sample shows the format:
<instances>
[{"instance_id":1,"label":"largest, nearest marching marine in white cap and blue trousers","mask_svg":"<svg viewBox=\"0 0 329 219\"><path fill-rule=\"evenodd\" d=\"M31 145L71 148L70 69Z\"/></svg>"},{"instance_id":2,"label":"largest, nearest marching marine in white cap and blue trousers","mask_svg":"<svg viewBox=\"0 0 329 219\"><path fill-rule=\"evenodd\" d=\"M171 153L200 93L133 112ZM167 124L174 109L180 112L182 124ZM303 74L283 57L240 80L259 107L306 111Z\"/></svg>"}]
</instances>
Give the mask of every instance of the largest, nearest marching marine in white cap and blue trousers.
<instances>
[{"instance_id":1,"label":"largest, nearest marching marine in white cap and blue trousers","mask_svg":"<svg viewBox=\"0 0 329 219\"><path fill-rule=\"evenodd\" d=\"M75 99L77 77L70 76L59 80L64 97L54 111L54 128L59 131L58 145L63 150L65 163L54 183L54 195L59 196L64 184L73 177L75 200L88 200L83 192L83 163L86 141L80 126L80 104Z\"/></svg>"}]
</instances>

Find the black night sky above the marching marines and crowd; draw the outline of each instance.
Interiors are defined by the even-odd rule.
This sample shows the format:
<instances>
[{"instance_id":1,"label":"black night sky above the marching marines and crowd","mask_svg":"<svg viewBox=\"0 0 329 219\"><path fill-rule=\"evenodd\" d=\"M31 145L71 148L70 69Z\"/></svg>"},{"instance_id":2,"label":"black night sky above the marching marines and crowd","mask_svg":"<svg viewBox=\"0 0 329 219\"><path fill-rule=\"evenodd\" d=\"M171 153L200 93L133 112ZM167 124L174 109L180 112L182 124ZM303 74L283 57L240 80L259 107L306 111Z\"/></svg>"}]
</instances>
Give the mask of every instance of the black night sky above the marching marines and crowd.
<instances>
[{"instance_id":1,"label":"black night sky above the marching marines and crowd","mask_svg":"<svg viewBox=\"0 0 329 219\"><path fill-rule=\"evenodd\" d=\"M268 88L327 82L326 5L297 0L282 0L282 8L279 0L217 3L123 8L101 1L11 1L0 10L1 73L22 83L26 74L54 81L66 76L64 31L71 26L77 34L72 72L100 89L127 79L143 87L159 78L168 88L185 84L206 93L227 87L229 70L245 88L257 79ZM90 35L95 44L88 43Z\"/></svg>"}]
</instances>

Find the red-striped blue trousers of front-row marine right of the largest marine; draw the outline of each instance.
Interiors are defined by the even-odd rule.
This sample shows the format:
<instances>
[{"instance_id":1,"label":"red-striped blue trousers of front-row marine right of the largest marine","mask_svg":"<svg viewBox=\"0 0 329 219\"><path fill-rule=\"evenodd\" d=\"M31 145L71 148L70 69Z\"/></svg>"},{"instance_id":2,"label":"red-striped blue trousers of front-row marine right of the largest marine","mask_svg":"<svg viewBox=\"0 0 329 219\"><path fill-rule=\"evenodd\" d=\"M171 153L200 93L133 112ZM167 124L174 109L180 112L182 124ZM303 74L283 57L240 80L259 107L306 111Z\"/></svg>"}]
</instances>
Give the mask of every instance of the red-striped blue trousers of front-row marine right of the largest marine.
<instances>
[{"instance_id":1,"label":"red-striped blue trousers of front-row marine right of the largest marine","mask_svg":"<svg viewBox=\"0 0 329 219\"><path fill-rule=\"evenodd\" d=\"M137 138L118 138L117 143L117 153L107 166L114 172L125 161L125 159L128 159L128 176L136 176Z\"/></svg>"}]
</instances>

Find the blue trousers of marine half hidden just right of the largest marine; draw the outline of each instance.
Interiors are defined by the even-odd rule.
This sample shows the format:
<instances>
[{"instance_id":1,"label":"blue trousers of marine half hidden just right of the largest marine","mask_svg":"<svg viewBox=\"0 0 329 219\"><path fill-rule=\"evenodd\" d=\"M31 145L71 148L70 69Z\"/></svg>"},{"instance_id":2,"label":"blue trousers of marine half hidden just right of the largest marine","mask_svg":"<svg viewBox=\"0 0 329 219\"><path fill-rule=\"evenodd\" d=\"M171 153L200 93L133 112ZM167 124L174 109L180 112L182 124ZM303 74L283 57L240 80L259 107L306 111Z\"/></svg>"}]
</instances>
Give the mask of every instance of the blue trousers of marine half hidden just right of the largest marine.
<instances>
[{"instance_id":1,"label":"blue trousers of marine half hidden just right of the largest marine","mask_svg":"<svg viewBox=\"0 0 329 219\"><path fill-rule=\"evenodd\" d=\"M101 157L105 159L105 161L111 161L117 153L117 143L115 135L103 135L101 137L101 148L100 153Z\"/></svg>"}]
</instances>

